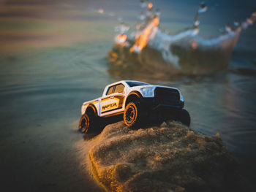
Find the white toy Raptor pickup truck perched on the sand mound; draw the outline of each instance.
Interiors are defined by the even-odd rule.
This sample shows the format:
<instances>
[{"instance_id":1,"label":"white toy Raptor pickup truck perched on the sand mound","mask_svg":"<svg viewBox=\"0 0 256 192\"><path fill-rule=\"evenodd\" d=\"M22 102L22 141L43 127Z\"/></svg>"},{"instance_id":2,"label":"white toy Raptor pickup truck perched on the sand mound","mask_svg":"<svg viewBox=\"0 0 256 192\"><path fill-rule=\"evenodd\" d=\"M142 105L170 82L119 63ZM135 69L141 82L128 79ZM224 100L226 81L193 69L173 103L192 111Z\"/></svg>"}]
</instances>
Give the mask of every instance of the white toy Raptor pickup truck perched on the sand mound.
<instances>
[{"instance_id":1,"label":"white toy Raptor pickup truck perched on the sand mound","mask_svg":"<svg viewBox=\"0 0 256 192\"><path fill-rule=\"evenodd\" d=\"M122 115L129 127L154 118L178 120L189 126L189 112L183 107L184 99L178 88L122 80L107 85L98 99L83 103L79 129L86 133L94 131L102 119L117 115Z\"/></svg>"}]
</instances>

